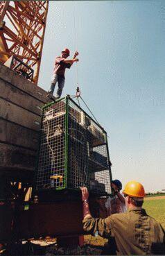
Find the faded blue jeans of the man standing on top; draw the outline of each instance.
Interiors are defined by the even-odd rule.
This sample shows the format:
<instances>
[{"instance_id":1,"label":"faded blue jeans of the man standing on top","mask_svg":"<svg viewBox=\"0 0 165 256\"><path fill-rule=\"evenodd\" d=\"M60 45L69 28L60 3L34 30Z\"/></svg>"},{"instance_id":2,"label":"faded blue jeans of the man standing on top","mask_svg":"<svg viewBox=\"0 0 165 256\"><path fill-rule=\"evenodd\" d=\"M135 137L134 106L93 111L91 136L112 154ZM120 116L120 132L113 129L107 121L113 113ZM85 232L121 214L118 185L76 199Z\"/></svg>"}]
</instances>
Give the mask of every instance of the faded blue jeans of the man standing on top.
<instances>
[{"instance_id":1,"label":"faded blue jeans of the man standing on top","mask_svg":"<svg viewBox=\"0 0 165 256\"><path fill-rule=\"evenodd\" d=\"M62 94L62 89L64 87L64 80L65 80L65 78L63 76L59 76L58 74L53 74L52 79L51 79L51 87L50 87L49 93L53 94L55 85L58 82L58 90L55 95L55 97L58 99L60 98L60 96Z\"/></svg>"}]
</instances>

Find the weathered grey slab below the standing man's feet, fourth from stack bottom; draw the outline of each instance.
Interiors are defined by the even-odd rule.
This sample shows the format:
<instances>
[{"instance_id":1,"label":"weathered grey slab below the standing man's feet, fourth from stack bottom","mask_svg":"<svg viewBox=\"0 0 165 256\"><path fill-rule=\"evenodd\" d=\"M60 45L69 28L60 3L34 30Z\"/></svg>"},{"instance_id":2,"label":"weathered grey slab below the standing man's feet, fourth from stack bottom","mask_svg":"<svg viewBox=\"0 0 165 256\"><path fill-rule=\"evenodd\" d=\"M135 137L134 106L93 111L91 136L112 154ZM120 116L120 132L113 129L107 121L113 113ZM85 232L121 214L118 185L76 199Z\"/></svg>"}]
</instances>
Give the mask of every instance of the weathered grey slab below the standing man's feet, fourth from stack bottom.
<instances>
[{"instance_id":1,"label":"weathered grey slab below the standing man's feet, fourth from stack bottom","mask_svg":"<svg viewBox=\"0 0 165 256\"><path fill-rule=\"evenodd\" d=\"M0 97L26 108L26 110L30 110L36 114L42 114L41 108L44 105L42 101L38 101L33 96L26 94L26 92L3 80L1 80Z\"/></svg>"}]
</instances>

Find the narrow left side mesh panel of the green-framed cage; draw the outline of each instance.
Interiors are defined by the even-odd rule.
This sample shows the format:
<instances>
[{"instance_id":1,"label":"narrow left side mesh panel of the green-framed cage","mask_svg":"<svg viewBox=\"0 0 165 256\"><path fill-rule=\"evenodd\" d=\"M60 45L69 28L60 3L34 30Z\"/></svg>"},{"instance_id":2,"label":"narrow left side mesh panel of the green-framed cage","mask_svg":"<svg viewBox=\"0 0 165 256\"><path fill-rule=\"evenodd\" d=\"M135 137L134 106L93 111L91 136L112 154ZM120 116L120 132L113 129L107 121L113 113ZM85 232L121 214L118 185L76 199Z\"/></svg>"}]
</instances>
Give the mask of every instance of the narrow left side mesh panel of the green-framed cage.
<instances>
[{"instance_id":1,"label":"narrow left side mesh panel of the green-framed cage","mask_svg":"<svg viewBox=\"0 0 165 256\"><path fill-rule=\"evenodd\" d=\"M37 189L57 189L65 186L65 113L66 103L64 101L48 106L42 112Z\"/></svg>"}]
</instances>

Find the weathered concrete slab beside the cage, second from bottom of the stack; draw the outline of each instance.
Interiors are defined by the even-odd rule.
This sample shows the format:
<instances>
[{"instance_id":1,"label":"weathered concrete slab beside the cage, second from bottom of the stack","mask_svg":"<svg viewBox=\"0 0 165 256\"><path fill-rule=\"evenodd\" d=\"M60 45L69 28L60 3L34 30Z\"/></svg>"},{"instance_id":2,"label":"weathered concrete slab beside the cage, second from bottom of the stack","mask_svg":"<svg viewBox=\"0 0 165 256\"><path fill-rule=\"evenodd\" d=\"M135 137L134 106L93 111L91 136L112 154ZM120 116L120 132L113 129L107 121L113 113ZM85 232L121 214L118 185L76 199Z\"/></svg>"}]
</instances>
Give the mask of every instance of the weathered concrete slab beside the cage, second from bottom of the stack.
<instances>
[{"instance_id":1,"label":"weathered concrete slab beside the cage, second from bottom of the stack","mask_svg":"<svg viewBox=\"0 0 165 256\"><path fill-rule=\"evenodd\" d=\"M39 133L0 119L0 142L37 150Z\"/></svg>"}]
</instances>

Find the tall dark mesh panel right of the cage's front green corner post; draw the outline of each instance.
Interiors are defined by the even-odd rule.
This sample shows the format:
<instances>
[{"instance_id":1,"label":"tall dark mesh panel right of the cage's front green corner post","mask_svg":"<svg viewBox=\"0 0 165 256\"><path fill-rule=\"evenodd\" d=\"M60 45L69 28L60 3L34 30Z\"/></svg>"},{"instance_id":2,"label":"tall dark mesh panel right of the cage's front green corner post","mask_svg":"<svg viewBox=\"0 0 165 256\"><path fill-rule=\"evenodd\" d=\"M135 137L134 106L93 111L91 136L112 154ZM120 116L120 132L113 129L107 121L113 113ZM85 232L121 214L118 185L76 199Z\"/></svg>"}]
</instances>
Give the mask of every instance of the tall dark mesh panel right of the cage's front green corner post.
<instances>
[{"instance_id":1,"label":"tall dark mesh panel right of the cage's front green corner post","mask_svg":"<svg viewBox=\"0 0 165 256\"><path fill-rule=\"evenodd\" d=\"M78 106L69 101L69 165L68 186L89 187L88 142L85 129L85 114Z\"/></svg>"}]
</instances>

